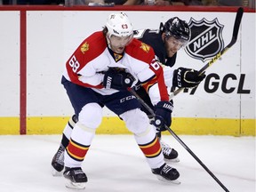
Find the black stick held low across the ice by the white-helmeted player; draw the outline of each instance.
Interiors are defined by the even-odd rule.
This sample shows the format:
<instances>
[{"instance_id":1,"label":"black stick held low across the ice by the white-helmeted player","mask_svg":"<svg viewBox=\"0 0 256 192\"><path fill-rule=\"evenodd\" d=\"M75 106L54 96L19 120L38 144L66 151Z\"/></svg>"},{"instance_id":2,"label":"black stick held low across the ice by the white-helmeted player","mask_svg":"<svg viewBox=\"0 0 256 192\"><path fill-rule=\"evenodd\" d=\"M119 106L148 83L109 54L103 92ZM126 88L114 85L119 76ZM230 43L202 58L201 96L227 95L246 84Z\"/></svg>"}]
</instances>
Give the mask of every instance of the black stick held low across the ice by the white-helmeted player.
<instances>
[{"instance_id":1,"label":"black stick held low across the ice by the white-helmeted player","mask_svg":"<svg viewBox=\"0 0 256 192\"><path fill-rule=\"evenodd\" d=\"M140 101L140 104L143 105L143 106L148 110L148 112L150 113L150 116L152 116L152 117L155 117L155 116L156 116L155 113L154 113L154 111L153 111L153 109L150 108L150 107L148 106L148 104L147 104L144 100L142 100L142 99L140 98L140 96L139 96L133 89L128 89L128 91L131 92L132 95L135 96L135 97L137 98L137 100ZM220 180L218 180L218 178L205 166L205 164L193 153L193 151L192 151L190 148L188 148L188 146L187 146L182 140L180 140L180 137L178 137L178 135L177 135L175 132L173 132L170 127L168 127L167 125L165 125L165 129L166 129L168 132L170 132L170 133L172 134L172 136L173 136L176 140L178 140L178 141L180 142L180 145L181 145L183 148L185 148L185 149L188 151L188 153L196 159L196 161L198 162L198 164L200 164L200 165L204 168L204 170L205 170L206 172L208 172L208 173L212 176L212 178L213 178L214 180L216 180L216 181L219 183L219 185L220 185L221 188L223 188L225 191L229 192L229 191L228 191L228 188L226 188L226 187L220 182Z\"/></svg>"}]
</instances>

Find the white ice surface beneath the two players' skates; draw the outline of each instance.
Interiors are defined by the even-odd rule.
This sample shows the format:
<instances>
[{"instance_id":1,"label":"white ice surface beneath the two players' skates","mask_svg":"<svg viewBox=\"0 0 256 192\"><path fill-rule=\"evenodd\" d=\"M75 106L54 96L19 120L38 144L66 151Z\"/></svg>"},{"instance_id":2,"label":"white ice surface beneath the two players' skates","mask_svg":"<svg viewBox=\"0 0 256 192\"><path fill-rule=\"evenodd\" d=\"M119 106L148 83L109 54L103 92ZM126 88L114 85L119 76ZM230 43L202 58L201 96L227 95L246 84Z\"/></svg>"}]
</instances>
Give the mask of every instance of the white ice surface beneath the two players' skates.
<instances>
[{"instance_id":1,"label":"white ice surface beneath the two players' skates","mask_svg":"<svg viewBox=\"0 0 256 192\"><path fill-rule=\"evenodd\" d=\"M0 136L1 192L63 192L63 177L52 177L52 156L60 135ZM231 192L255 192L255 138L180 135L196 156ZM156 179L132 135L96 135L84 160L92 192L224 191L171 135L163 140L178 150L180 185Z\"/></svg>"}]
</instances>

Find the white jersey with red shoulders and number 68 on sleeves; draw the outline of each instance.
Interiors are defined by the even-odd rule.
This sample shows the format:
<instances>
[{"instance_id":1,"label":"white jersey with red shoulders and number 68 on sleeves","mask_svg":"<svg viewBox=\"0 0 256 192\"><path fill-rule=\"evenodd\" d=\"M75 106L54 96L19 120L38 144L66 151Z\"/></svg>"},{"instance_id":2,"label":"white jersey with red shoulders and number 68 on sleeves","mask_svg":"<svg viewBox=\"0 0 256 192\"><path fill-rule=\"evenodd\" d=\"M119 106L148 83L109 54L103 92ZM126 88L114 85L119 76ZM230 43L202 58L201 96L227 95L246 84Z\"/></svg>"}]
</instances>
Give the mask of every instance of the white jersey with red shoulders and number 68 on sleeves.
<instances>
[{"instance_id":1,"label":"white jersey with red shoulders and number 68 on sleeves","mask_svg":"<svg viewBox=\"0 0 256 192\"><path fill-rule=\"evenodd\" d=\"M169 100L163 68L155 60L154 50L135 38L125 47L124 54L111 54L103 32L93 33L68 59L63 76L102 95L112 94L118 91L102 85L108 68L125 68L136 79L134 84L140 81L154 105L160 100Z\"/></svg>"}]
</instances>

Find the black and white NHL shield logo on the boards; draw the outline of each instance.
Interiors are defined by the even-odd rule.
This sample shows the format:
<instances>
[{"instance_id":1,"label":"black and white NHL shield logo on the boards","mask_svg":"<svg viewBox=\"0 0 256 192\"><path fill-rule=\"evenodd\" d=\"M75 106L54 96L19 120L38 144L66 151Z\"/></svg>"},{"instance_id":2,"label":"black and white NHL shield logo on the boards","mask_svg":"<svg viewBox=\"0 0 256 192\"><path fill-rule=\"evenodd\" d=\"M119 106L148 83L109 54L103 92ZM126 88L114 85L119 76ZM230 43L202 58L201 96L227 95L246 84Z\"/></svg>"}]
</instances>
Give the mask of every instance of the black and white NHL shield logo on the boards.
<instances>
[{"instance_id":1,"label":"black and white NHL shield logo on the boards","mask_svg":"<svg viewBox=\"0 0 256 192\"><path fill-rule=\"evenodd\" d=\"M212 59L223 49L222 29L224 26L219 23L217 18L212 21L205 18L196 21L191 18L188 26L191 30L191 37L185 51L190 57L204 62Z\"/></svg>"}]
</instances>

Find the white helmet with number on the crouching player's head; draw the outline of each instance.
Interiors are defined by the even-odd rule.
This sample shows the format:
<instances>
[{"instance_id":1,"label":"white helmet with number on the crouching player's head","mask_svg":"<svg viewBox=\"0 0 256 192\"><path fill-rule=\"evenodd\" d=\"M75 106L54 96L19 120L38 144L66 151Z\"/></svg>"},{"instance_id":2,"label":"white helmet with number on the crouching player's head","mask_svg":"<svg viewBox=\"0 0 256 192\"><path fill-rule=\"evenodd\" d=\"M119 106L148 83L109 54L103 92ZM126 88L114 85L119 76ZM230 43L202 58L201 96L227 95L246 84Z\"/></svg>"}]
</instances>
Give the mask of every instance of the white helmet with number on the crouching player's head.
<instances>
[{"instance_id":1,"label":"white helmet with number on the crouching player's head","mask_svg":"<svg viewBox=\"0 0 256 192\"><path fill-rule=\"evenodd\" d=\"M111 13L106 23L108 36L131 36L133 33L132 23L124 12Z\"/></svg>"}]
</instances>

